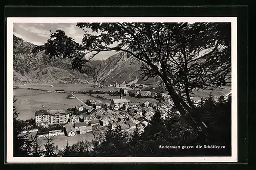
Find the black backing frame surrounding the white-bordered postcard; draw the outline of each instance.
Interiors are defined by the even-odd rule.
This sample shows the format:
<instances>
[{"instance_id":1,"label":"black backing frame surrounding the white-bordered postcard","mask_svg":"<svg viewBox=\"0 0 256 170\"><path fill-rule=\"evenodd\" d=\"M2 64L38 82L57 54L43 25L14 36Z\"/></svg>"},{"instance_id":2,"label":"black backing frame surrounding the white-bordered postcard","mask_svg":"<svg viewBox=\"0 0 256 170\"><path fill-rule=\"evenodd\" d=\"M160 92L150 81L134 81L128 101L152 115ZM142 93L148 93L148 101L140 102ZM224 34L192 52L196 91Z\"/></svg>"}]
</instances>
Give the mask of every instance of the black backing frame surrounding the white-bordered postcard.
<instances>
[{"instance_id":1,"label":"black backing frame surrounding the white-bordered postcard","mask_svg":"<svg viewBox=\"0 0 256 170\"><path fill-rule=\"evenodd\" d=\"M68 12L67 12L68 11ZM152 12L155 11L155 12ZM5 8L5 25L7 17L238 17L238 163L247 163L247 122L248 122L248 9L246 6L165 6L165 7L15 7ZM5 27L6 44L6 27ZM6 46L5 46L6 52ZM243 57L242 57L243 56ZM4 64L6 66L6 53ZM4 89L6 99L6 67ZM232 82L233 83L233 82ZM5 115L6 115L5 102ZM6 125L6 119L5 125ZM6 127L4 127L6 128ZM6 131L5 131L6 139ZM6 143L6 141L4 141ZM5 147L6 163L6 147ZM16 164L16 163L15 163ZM38 163L33 163L38 164ZM44 163L45 164L45 163ZM54 163L60 164L60 163ZM63 163L61 163L63 164ZM80 163L77 163L80 164ZM111 164L111 163L109 163ZM124 164L124 163L118 163ZM125 163L127 164L127 163ZM143 163L148 164L148 163ZM157 163L177 164L177 163ZM187 164L187 163L186 163ZM214 164L214 163L205 163ZM224 164L218 163L217 164ZM232 163L237 164L237 163Z\"/></svg>"}]
</instances>

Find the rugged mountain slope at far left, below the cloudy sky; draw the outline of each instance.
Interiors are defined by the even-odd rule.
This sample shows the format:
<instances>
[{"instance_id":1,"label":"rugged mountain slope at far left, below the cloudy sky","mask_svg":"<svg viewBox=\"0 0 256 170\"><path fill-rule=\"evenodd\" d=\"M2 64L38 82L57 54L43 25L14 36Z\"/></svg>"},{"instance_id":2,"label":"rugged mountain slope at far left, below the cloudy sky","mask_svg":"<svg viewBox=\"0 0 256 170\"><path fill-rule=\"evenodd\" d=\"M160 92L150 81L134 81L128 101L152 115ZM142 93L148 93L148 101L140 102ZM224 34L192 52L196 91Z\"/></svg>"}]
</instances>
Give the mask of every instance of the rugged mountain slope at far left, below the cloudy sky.
<instances>
[{"instance_id":1,"label":"rugged mountain slope at far left, below the cloudy sky","mask_svg":"<svg viewBox=\"0 0 256 170\"><path fill-rule=\"evenodd\" d=\"M39 52L32 53L36 45L13 35L14 83L93 83L87 74L72 70L71 61L51 60Z\"/></svg>"}]
</instances>

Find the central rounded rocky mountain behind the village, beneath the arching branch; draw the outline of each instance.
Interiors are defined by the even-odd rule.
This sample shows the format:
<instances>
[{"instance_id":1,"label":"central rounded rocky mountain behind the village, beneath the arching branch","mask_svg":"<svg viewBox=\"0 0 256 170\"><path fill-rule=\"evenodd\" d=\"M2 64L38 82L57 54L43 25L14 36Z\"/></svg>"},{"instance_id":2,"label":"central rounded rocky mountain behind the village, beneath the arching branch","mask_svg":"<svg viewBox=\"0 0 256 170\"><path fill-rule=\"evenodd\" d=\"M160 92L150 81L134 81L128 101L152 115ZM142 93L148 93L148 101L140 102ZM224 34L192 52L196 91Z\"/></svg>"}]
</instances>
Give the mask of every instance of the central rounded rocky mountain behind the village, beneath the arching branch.
<instances>
[{"instance_id":1,"label":"central rounded rocky mountain behind the village, beneath the arching branch","mask_svg":"<svg viewBox=\"0 0 256 170\"><path fill-rule=\"evenodd\" d=\"M142 79L141 62L130 54L119 52L102 61L94 70L95 81L100 84L138 83L159 85L161 79Z\"/></svg>"}]
</instances>

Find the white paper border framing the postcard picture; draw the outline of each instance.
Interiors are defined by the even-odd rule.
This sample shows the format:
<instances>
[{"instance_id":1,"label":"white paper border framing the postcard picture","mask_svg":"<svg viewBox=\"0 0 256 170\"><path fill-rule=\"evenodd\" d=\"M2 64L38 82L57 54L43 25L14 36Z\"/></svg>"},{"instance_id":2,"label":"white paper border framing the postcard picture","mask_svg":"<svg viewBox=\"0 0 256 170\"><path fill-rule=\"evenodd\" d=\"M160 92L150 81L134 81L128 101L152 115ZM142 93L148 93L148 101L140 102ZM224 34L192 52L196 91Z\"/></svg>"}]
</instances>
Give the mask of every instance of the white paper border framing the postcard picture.
<instances>
[{"instance_id":1,"label":"white paper border framing the postcard picture","mask_svg":"<svg viewBox=\"0 0 256 170\"><path fill-rule=\"evenodd\" d=\"M231 157L13 157L13 23L76 22L231 22ZM75 17L75 18L7 18L7 162L8 163L106 163L106 162L237 162L237 17Z\"/></svg>"}]
</instances>

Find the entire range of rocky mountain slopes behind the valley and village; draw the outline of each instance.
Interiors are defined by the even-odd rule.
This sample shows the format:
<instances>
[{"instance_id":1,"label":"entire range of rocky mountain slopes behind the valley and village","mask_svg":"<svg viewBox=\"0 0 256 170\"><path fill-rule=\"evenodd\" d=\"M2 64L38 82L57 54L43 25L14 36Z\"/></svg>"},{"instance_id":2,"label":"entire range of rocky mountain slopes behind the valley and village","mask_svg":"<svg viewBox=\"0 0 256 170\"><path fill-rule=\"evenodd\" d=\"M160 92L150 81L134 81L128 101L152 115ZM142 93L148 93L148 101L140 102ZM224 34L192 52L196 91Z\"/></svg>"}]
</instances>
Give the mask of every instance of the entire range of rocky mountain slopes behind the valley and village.
<instances>
[{"instance_id":1,"label":"entire range of rocky mountain slopes behind the valley and village","mask_svg":"<svg viewBox=\"0 0 256 170\"><path fill-rule=\"evenodd\" d=\"M14 83L138 83L159 85L161 79L142 79L141 62L125 52L105 60L92 60L83 71L73 70L71 60L49 60L44 52L32 53L37 46L13 35Z\"/></svg>"}]
</instances>

